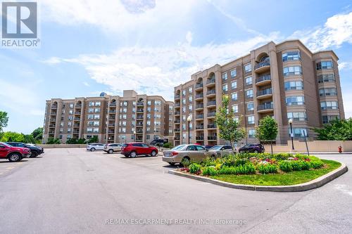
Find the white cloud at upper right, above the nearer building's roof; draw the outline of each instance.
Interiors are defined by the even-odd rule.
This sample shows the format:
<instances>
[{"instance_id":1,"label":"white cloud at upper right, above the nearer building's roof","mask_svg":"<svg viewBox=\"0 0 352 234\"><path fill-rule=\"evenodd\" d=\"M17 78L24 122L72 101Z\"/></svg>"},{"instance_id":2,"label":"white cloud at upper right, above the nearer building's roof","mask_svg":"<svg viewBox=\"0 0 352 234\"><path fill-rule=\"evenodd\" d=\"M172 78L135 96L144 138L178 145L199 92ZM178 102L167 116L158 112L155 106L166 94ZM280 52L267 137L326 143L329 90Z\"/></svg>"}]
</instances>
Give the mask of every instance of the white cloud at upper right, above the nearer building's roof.
<instances>
[{"instance_id":1,"label":"white cloud at upper right, above the nearer building's roof","mask_svg":"<svg viewBox=\"0 0 352 234\"><path fill-rule=\"evenodd\" d=\"M352 44L352 12L333 15L324 26L296 31L290 38L301 39L312 51L339 48L344 42Z\"/></svg>"}]
</instances>

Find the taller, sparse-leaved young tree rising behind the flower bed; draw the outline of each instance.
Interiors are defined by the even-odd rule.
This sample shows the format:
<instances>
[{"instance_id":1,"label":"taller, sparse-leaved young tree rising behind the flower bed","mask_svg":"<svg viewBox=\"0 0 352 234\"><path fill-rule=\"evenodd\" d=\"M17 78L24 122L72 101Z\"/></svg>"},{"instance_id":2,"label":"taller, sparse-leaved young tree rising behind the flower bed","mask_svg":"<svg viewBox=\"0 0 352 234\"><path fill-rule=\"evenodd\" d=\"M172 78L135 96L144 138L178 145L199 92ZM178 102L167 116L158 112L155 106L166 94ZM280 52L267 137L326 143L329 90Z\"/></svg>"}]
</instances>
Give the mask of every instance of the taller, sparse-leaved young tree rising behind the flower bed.
<instances>
[{"instance_id":1,"label":"taller, sparse-leaved young tree rising behind the flower bed","mask_svg":"<svg viewBox=\"0 0 352 234\"><path fill-rule=\"evenodd\" d=\"M246 137L246 129L241 128L239 122L235 119L234 111L230 108L229 97L222 96L222 106L216 112L215 124L218 126L220 138L230 141L232 152L234 152L234 143Z\"/></svg>"}]
</instances>

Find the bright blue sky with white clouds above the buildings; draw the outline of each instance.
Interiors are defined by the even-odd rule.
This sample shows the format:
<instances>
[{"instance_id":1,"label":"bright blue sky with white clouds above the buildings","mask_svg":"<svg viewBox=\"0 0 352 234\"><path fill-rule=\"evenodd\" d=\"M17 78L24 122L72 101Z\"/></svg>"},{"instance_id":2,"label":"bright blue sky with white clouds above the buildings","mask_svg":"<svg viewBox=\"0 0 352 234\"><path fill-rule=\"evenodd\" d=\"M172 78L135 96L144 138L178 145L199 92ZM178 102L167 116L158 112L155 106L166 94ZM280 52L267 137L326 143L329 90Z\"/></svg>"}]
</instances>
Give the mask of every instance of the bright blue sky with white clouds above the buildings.
<instances>
[{"instance_id":1,"label":"bright blue sky with white clouds above the buildings","mask_svg":"<svg viewBox=\"0 0 352 234\"><path fill-rule=\"evenodd\" d=\"M4 131L43 126L51 98L122 95L173 100L191 74L269 41L334 50L352 117L352 2L250 0L39 0L40 48L0 48Z\"/></svg>"}]
</instances>

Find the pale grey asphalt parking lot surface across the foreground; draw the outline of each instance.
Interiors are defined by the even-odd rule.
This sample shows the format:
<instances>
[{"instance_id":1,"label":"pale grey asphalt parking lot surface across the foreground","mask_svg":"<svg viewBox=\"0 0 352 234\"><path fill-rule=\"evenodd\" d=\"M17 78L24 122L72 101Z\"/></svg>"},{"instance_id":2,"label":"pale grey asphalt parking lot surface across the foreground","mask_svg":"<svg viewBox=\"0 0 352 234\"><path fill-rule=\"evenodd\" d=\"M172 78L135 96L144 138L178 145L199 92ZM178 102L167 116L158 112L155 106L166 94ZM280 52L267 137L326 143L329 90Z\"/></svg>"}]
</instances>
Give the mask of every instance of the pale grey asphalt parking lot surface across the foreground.
<instances>
[{"instance_id":1,"label":"pale grey asphalt parking lot surface across the foreground","mask_svg":"<svg viewBox=\"0 0 352 234\"><path fill-rule=\"evenodd\" d=\"M352 167L352 155L320 155ZM0 233L350 233L352 176L299 193L168 174L161 157L80 148L0 162ZM168 223L167 223L168 222Z\"/></svg>"}]
</instances>

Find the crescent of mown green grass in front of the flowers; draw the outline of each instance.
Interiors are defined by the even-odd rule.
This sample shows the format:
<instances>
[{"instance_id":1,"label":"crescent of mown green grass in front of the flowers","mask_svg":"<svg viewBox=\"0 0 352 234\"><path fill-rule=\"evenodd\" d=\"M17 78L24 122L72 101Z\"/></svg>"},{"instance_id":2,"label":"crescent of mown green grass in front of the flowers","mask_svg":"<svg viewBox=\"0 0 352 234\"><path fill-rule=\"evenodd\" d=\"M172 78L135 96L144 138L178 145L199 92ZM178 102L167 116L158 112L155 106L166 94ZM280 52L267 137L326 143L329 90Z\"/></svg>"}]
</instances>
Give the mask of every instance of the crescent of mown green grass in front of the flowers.
<instances>
[{"instance_id":1,"label":"crescent of mown green grass in front of the flowers","mask_svg":"<svg viewBox=\"0 0 352 234\"><path fill-rule=\"evenodd\" d=\"M332 160L322 160L322 162L326 167L316 170L292 171L284 174L218 175L210 178L253 186L291 186L311 181L341 166L341 163Z\"/></svg>"}]
</instances>

